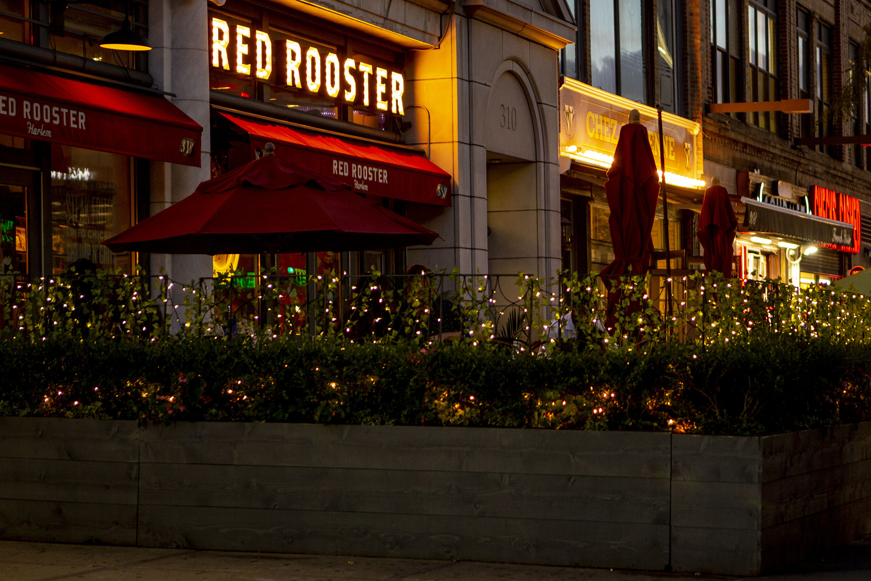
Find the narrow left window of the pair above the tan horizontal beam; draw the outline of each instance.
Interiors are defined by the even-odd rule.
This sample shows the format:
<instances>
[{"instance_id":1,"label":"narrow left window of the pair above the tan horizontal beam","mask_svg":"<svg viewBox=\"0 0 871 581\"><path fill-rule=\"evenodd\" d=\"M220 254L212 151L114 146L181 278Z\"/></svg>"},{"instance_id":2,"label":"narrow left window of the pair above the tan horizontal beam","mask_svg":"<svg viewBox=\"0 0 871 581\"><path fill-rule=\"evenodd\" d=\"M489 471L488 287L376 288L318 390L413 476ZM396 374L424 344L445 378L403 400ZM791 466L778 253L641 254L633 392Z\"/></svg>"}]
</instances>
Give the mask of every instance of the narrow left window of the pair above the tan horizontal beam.
<instances>
[{"instance_id":1,"label":"narrow left window of the pair above the tan horizontal beam","mask_svg":"<svg viewBox=\"0 0 871 581\"><path fill-rule=\"evenodd\" d=\"M740 24L739 0L711 0L713 99L739 101Z\"/></svg>"}]
</instances>

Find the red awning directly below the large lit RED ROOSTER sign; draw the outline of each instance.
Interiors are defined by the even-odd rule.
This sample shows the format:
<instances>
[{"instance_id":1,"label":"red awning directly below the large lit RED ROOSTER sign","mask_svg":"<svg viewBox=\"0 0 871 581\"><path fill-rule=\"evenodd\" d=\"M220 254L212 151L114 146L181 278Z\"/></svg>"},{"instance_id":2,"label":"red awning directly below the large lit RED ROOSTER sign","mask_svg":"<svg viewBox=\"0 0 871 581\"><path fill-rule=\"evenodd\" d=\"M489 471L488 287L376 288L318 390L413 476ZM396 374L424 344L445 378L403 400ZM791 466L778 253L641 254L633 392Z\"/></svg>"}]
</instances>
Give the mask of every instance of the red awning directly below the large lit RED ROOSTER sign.
<instances>
[{"instance_id":1,"label":"red awning directly below the large lit RED ROOSTER sign","mask_svg":"<svg viewBox=\"0 0 871 581\"><path fill-rule=\"evenodd\" d=\"M280 121L221 115L250 133L255 147L262 149L271 141L275 155L345 182L354 192L450 206L450 174L422 152L308 131Z\"/></svg>"}]
</instances>

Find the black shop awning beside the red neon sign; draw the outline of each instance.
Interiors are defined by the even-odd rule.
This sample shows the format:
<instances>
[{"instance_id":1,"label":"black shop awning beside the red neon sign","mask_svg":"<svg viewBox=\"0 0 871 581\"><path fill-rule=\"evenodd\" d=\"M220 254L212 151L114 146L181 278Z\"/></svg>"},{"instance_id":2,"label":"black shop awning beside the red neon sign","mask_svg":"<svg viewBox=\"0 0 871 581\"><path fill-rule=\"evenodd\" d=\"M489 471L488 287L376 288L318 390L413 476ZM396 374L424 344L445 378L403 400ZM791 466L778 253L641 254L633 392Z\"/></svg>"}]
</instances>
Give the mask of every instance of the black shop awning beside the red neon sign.
<instances>
[{"instance_id":1,"label":"black shop awning beside the red neon sign","mask_svg":"<svg viewBox=\"0 0 871 581\"><path fill-rule=\"evenodd\" d=\"M755 199L741 198L741 201L747 206L744 226L749 231L779 234L816 244L853 246L852 224L796 212Z\"/></svg>"}]
</instances>

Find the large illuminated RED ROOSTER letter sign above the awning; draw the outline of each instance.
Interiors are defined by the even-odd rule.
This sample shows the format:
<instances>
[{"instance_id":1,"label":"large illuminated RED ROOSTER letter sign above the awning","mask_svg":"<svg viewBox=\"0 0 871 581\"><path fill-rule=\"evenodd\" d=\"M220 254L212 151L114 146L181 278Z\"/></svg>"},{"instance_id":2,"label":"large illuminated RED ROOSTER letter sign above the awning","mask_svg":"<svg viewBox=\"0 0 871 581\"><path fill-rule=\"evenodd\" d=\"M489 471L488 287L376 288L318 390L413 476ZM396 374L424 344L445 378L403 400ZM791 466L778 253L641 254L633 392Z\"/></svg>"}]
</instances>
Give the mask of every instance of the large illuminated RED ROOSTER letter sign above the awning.
<instances>
[{"instance_id":1,"label":"large illuminated RED ROOSTER letter sign above the awning","mask_svg":"<svg viewBox=\"0 0 871 581\"><path fill-rule=\"evenodd\" d=\"M233 18L212 16L212 68L259 78L321 97L341 99L361 107L403 115L405 78L398 71L354 58L340 60L337 52L314 46L273 30L257 30ZM273 42L278 44L274 45ZM372 82L370 82L370 78Z\"/></svg>"}]
</instances>

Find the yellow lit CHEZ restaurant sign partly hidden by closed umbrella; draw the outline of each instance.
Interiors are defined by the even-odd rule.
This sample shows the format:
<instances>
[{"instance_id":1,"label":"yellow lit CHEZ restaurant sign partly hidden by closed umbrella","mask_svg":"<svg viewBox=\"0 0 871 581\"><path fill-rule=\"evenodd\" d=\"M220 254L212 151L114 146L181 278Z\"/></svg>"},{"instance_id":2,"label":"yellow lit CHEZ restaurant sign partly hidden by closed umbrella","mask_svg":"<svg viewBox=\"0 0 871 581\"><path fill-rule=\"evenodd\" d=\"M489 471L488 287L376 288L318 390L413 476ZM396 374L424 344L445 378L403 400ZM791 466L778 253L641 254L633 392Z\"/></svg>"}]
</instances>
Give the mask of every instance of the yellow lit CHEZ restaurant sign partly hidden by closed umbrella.
<instances>
[{"instance_id":1,"label":"yellow lit CHEZ restaurant sign partly hidden by closed umbrella","mask_svg":"<svg viewBox=\"0 0 871 581\"><path fill-rule=\"evenodd\" d=\"M638 109L647 127L653 157L662 175L657 111L629 99L566 78L560 88L559 153L578 163L603 169L611 167L620 129L629 123L629 111ZM703 189L701 127L685 118L663 113L662 153L665 182Z\"/></svg>"}]
</instances>

